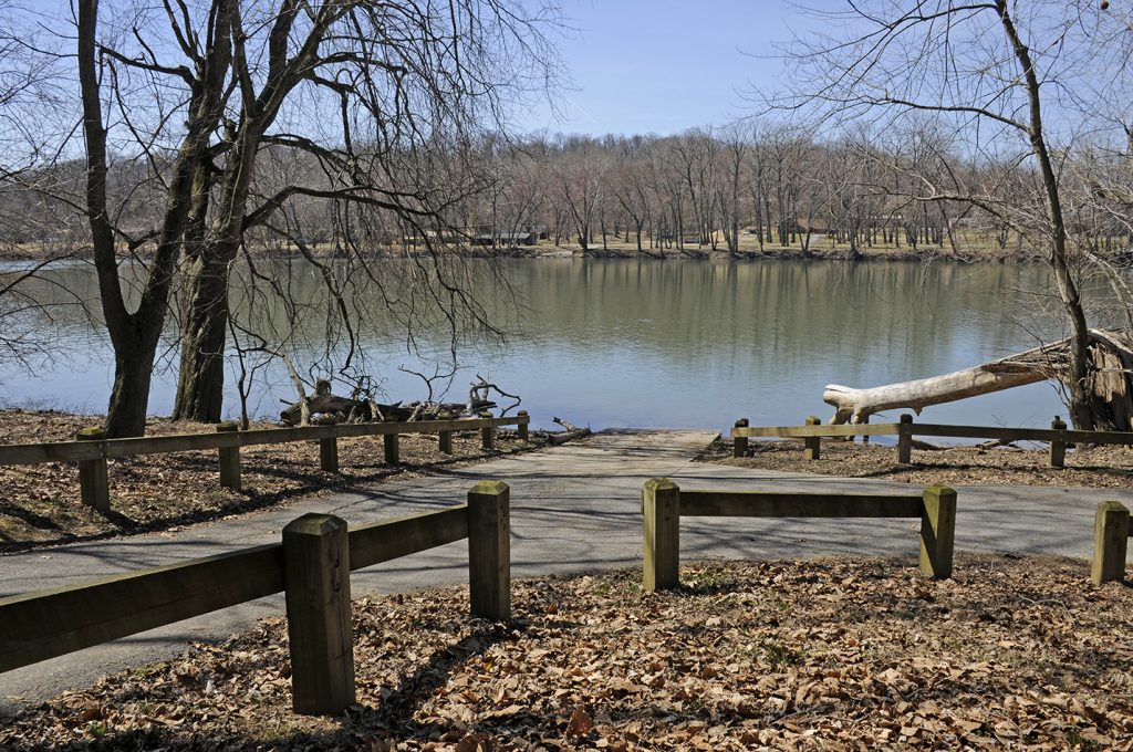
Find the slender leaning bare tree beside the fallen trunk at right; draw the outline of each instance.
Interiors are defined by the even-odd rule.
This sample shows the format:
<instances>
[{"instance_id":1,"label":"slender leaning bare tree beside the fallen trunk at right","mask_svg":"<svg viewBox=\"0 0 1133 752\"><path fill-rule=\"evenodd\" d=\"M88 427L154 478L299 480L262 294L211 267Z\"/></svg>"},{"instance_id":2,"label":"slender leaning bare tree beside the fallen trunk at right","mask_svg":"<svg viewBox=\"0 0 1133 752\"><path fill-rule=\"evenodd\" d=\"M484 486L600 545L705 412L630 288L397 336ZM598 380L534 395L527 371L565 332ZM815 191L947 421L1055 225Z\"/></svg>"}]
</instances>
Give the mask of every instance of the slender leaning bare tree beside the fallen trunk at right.
<instances>
[{"instance_id":1,"label":"slender leaning bare tree beside the fallen trunk at right","mask_svg":"<svg viewBox=\"0 0 1133 752\"><path fill-rule=\"evenodd\" d=\"M1057 5L1057 7L1056 7ZM1074 424L1108 425L1090 387L1085 310L1071 258L1059 145L1045 108L1054 92L1088 65L1098 23L1094 3L1007 0L877 0L847 2L827 16L845 36L800 41L793 49L802 96L781 106L813 108L820 117L900 120L931 113L965 137L970 154L1028 165L1036 202L981 191L954 193L922 177L922 200L963 202L1002 216L1046 249L1070 328L1065 383ZM884 127L884 123L883 126Z\"/></svg>"}]
</instances>

